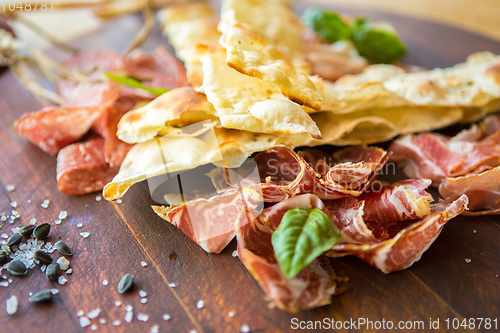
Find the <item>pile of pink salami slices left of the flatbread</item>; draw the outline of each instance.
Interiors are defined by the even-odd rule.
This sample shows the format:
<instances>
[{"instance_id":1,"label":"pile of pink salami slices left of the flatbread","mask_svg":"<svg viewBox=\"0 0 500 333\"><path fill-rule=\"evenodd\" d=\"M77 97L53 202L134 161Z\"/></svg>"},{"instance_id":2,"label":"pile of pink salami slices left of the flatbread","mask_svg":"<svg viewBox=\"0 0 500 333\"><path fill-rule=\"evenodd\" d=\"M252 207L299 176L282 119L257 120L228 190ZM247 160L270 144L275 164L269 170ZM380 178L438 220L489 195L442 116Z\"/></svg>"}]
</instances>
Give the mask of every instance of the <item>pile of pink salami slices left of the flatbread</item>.
<instances>
[{"instance_id":1,"label":"pile of pink salami slices left of the flatbread","mask_svg":"<svg viewBox=\"0 0 500 333\"><path fill-rule=\"evenodd\" d=\"M100 191L118 173L131 148L116 136L118 121L138 103L156 97L110 81L103 72L134 77L152 88L172 89L187 84L185 71L162 47L151 54L136 50L126 57L115 51L89 51L63 65L88 81L57 82L55 89L65 104L23 115L14 130L57 155L59 191L70 195Z\"/></svg>"}]
</instances>

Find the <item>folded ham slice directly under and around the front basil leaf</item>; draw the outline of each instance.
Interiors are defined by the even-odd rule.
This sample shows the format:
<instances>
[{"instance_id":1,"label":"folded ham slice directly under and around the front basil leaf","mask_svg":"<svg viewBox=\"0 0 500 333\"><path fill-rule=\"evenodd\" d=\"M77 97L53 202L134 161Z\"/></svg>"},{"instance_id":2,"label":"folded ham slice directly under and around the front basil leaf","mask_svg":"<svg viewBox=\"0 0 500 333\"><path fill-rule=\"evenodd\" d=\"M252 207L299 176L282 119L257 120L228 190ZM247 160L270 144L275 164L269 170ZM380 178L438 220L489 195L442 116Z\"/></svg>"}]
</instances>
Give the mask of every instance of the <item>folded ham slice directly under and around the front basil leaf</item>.
<instances>
[{"instance_id":1,"label":"folded ham slice directly under and around the front basil leaf","mask_svg":"<svg viewBox=\"0 0 500 333\"><path fill-rule=\"evenodd\" d=\"M295 207L316 207L321 200L300 195L262 211L258 219L238 230L238 256L259 282L271 306L297 312L329 304L337 281L328 260L319 257L292 279L283 275L276 261L271 236L285 212Z\"/></svg>"}]
</instances>

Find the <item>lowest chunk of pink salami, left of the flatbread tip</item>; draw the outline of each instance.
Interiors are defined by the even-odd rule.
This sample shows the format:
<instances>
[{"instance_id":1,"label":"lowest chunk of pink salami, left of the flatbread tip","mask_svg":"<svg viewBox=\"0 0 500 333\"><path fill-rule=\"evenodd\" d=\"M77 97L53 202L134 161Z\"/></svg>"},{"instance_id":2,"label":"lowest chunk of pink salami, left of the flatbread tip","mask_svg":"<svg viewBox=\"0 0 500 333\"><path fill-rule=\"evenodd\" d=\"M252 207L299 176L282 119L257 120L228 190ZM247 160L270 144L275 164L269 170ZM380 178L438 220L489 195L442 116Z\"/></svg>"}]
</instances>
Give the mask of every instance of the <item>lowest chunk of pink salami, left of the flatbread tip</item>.
<instances>
[{"instance_id":1,"label":"lowest chunk of pink salami, left of the flatbread tip","mask_svg":"<svg viewBox=\"0 0 500 333\"><path fill-rule=\"evenodd\" d=\"M73 143L57 155L57 188L69 195L100 191L118 173L104 159L104 139Z\"/></svg>"}]
</instances>

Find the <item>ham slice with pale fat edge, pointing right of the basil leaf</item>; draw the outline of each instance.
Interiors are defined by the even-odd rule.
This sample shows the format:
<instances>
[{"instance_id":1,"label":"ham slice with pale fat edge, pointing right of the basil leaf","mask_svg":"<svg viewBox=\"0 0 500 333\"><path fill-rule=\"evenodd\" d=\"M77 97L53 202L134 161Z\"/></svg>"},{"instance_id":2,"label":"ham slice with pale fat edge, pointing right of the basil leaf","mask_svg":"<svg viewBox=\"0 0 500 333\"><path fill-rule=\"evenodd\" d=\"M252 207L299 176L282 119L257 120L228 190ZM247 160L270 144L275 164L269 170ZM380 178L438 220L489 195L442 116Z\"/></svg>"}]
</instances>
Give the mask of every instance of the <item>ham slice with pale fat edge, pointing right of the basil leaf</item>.
<instances>
[{"instance_id":1,"label":"ham slice with pale fat edge, pointing right of the basil leaf","mask_svg":"<svg viewBox=\"0 0 500 333\"><path fill-rule=\"evenodd\" d=\"M410 225L400 222L379 224L378 227L386 231L384 232L386 239L372 244L339 242L333 246L328 255L354 255L384 273L408 268L420 260L422 253L439 236L445 223L463 212L467 203L467 196L462 195L451 203L435 205L431 214Z\"/></svg>"}]
</instances>

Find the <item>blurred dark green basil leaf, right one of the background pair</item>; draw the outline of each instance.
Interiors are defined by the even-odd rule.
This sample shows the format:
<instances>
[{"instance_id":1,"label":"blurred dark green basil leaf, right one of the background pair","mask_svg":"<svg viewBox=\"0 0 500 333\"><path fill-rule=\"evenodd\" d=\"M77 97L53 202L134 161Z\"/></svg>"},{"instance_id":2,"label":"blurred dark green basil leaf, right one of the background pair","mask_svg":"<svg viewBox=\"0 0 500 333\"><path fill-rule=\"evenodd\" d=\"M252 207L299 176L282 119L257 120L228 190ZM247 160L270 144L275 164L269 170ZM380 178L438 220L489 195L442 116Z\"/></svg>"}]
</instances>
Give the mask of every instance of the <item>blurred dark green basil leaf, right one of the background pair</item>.
<instances>
[{"instance_id":1,"label":"blurred dark green basil leaf, right one of the background pair","mask_svg":"<svg viewBox=\"0 0 500 333\"><path fill-rule=\"evenodd\" d=\"M406 53L406 47L389 24L357 18L352 41L359 54L377 63L391 63Z\"/></svg>"}]
</instances>

